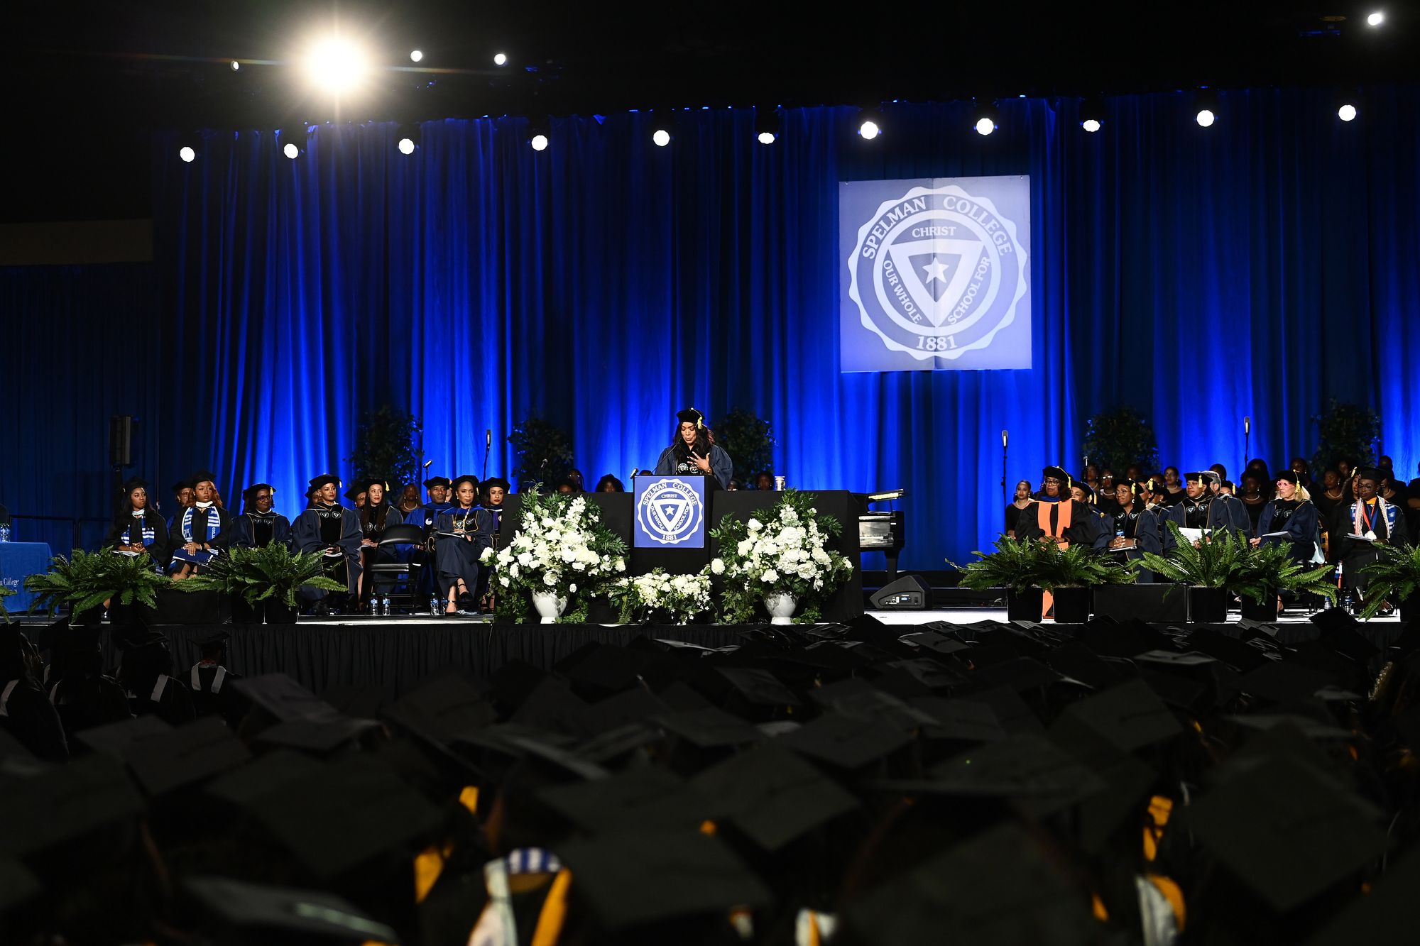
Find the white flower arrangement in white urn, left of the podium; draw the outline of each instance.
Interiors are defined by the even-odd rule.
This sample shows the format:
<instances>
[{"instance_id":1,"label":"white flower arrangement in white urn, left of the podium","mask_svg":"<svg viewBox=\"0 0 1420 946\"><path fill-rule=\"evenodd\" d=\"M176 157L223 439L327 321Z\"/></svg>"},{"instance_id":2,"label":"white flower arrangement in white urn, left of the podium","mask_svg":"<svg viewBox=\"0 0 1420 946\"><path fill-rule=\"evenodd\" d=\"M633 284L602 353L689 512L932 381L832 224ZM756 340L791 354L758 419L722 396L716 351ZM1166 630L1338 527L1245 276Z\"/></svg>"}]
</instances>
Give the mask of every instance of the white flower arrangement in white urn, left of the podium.
<instances>
[{"instance_id":1,"label":"white flower arrangement in white urn, left of the podium","mask_svg":"<svg viewBox=\"0 0 1420 946\"><path fill-rule=\"evenodd\" d=\"M584 496L534 490L521 501L513 541L480 557L493 567L497 614L521 624L531 616L532 592L542 591L569 601L559 621L586 621L588 601L626 571L626 543Z\"/></svg>"}]
</instances>

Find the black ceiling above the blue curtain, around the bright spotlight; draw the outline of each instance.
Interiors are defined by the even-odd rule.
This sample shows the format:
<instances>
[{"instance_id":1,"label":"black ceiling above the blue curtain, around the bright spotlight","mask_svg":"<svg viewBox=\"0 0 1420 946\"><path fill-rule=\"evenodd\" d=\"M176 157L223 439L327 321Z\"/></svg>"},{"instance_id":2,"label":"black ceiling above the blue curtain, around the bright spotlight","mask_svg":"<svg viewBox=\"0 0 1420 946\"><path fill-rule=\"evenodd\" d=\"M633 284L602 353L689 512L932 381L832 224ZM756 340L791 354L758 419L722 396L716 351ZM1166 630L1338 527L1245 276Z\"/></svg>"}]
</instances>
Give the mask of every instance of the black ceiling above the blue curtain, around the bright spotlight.
<instances>
[{"instance_id":1,"label":"black ceiling above the blue curtain, around the bright spotlight","mask_svg":"<svg viewBox=\"0 0 1420 946\"><path fill-rule=\"evenodd\" d=\"M7 179L33 186L0 214L145 216L156 129L1413 81L1420 16L1389 7L1370 28L1365 4L1237 0L23 4L0 37L10 126L48 145L4 149ZM291 64L337 23L381 67L338 114Z\"/></svg>"}]
</instances>

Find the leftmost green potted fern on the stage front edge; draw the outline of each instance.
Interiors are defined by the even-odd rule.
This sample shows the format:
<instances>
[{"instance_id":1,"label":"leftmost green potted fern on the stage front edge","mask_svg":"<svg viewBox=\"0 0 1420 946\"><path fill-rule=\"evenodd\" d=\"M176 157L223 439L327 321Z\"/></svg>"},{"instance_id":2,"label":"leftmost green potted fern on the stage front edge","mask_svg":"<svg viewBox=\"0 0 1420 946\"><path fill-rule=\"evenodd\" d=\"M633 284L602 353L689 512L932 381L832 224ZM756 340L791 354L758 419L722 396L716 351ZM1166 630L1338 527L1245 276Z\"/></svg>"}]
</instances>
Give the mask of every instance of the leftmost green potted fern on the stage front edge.
<instances>
[{"instance_id":1,"label":"leftmost green potted fern on the stage front edge","mask_svg":"<svg viewBox=\"0 0 1420 946\"><path fill-rule=\"evenodd\" d=\"M111 619L129 624L143 616L142 608L158 607L158 592L172 581L158 574L148 553L115 555L111 551L87 553L75 548L65 558L55 555L50 571L24 580L26 589L34 592L30 612L40 609L57 614L61 604L70 607L70 624L98 624L104 618L104 602L109 602Z\"/></svg>"}]
</instances>

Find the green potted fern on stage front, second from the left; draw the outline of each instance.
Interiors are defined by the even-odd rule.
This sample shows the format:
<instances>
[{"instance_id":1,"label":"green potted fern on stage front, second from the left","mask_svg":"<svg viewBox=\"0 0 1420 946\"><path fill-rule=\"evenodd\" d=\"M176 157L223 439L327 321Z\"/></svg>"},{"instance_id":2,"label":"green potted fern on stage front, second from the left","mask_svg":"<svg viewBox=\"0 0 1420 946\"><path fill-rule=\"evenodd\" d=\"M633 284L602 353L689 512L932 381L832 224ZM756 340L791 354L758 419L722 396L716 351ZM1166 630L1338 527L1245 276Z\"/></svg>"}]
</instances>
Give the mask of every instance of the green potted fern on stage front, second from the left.
<instances>
[{"instance_id":1,"label":"green potted fern on stage front, second from the left","mask_svg":"<svg viewBox=\"0 0 1420 946\"><path fill-rule=\"evenodd\" d=\"M239 624L260 624L263 618L267 624L295 624L295 594L301 588L345 591L345 585L325 577L322 564L318 553L293 553L277 543L231 548L178 587L229 597Z\"/></svg>"}]
</instances>

